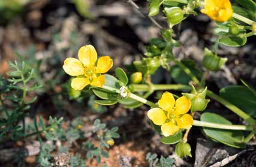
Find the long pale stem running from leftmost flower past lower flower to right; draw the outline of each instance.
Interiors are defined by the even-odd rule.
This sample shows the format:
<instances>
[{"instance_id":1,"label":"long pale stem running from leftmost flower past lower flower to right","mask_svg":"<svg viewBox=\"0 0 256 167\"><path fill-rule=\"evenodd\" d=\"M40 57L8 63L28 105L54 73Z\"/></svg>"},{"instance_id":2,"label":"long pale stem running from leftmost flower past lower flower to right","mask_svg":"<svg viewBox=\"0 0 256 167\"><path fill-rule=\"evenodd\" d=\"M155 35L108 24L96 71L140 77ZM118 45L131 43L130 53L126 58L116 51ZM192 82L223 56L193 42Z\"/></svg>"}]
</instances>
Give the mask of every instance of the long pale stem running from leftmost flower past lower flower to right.
<instances>
[{"instance_id":1,"label":"long pale stem running from leftmost flower past lower flower to right","mask_svg":"<svg viewBox=\"0 0 256 167\"><path fill-rule=\"evenodd\" d=\"M102 86L102 89L109 90L111 92L120 93L120 90L108 87L108 86ZM135 99L136 101L142 102L143 104L147 104L150 107L158 107L158 105L154 104L151 101L148 101L147 99L141 98L133 93L129 93L129 98ZM203 126L203 127L212 127L217 129L230 129L230 130L252 130L252 126L245 126L245 125L225 125L220 123L209 123L209 122L201 122L198 120L194 120L193 123L194 126ZM188 132L187 132L188 133Z\"/></svg>"}]
</instances>

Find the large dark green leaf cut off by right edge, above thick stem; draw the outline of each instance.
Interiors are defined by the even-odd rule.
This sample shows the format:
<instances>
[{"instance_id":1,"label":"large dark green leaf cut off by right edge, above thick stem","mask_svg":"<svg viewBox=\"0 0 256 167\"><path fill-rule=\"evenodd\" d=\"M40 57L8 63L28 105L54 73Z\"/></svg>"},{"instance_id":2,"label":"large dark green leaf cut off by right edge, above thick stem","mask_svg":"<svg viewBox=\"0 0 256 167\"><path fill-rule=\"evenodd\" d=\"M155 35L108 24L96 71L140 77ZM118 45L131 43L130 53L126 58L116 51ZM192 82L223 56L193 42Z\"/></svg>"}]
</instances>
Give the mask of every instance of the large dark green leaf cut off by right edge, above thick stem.
<instances>
[{"instance_id":1,"label":"large dark green leaf cut off by right edge, above thick stem","mask_svg":"<svg viewBox=\"0 0 256 167\"><path fill-rule=\"evenodd\" d=\"M250 116L256 117L256 95L247 87L227 86L222 88L219 94Z\"/></svg>"}]
</instances>

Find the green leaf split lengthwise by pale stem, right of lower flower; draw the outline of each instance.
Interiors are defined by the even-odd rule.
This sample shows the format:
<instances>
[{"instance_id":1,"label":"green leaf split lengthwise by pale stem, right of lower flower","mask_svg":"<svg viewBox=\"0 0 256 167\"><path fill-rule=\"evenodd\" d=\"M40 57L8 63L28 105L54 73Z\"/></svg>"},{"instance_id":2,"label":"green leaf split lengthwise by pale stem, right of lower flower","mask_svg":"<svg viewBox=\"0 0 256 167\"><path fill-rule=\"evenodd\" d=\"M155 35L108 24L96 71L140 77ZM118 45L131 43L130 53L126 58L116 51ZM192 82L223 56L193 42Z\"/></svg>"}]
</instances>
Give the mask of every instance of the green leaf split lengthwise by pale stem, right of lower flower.
<instances>
[{"instance_id":1,"label":"green leaf split lengthwise by pale stem, right of lower flower","mask_svg":"<svg viewBox=\"0 0 256 167\"><path fill-rule=\"evenodd\" d=\"M215 113L202 114L201 121L232 125L232 123L229 120ZM213 140L222 142L223 144L229 145L231 147L235 147L235 148L245 147L245 142L243 142L244 134L242 131L204 127L203 132Z\"/></svg>"}]
</instances>

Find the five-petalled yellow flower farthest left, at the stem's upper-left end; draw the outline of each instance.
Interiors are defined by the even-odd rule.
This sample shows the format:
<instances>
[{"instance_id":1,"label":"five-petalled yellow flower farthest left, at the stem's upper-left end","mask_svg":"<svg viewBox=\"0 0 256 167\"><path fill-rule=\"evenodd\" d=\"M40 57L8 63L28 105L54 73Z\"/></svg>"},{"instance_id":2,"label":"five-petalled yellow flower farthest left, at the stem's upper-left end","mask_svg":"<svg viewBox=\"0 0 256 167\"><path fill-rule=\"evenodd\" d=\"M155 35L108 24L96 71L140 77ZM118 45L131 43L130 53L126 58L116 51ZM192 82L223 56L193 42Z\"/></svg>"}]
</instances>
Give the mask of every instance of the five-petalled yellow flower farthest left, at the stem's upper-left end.
<instances>
[{"instance_id":1,"label":"five-petalled yellow flower farthest left, at the stem's upper-left end","mask_svg":"<svg viewBox=\"0 0 256 167\"><path fill-rule=\"evenodd\" d=\"M69 57L64 61L64 71L75 76L71 87L75 90L82 90L85 86L102 87L105 84L105 77L101 75L111 69L113 60L109 56L102 56L97 61L97 52L93 45L85 45L78 51L78 59Z\"/></svg>"}]
</instances>

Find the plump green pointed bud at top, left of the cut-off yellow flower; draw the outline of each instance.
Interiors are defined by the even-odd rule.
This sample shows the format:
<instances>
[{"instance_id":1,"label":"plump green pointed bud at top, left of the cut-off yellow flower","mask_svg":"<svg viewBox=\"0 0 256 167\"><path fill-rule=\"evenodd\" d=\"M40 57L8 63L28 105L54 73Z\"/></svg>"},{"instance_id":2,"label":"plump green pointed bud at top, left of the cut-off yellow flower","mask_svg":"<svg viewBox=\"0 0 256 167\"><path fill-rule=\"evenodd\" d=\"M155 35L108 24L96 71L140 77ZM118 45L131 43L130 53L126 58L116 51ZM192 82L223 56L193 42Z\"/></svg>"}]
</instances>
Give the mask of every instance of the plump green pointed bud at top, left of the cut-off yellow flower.
<instances>
[{"instance_id":1,"label":"plump green pointed bud at top, left of the cut-off yellow flower","mask_svg":"<svg viewBox=\"0 0 256 167\"><path fill-rule=\"evenodd\" d=\"M184 19L184 11L179 7L166 7L164 8L163 13L165 13L171 27L177 25Z\"/></svg>"}]
</instances>

